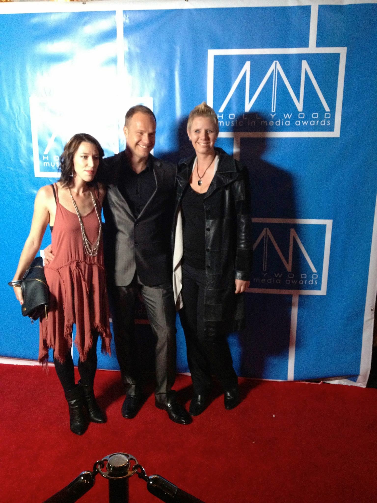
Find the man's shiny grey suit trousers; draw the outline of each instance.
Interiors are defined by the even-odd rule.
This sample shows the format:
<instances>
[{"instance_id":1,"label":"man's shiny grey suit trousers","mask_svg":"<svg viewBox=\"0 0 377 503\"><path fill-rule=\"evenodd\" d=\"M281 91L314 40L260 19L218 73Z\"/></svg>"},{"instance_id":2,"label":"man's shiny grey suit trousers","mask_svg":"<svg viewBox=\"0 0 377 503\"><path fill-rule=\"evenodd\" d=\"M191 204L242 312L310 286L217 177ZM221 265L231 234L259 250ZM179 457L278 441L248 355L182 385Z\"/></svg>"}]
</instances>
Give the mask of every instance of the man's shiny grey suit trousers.
<instances>
[{"instance_id":1,"label":"man's shiny grey suit trousers","mask_svg":"<svg viewBox=\"0 0 377 503\"><path fill-rule=\"evenodd\" d=\"M176 339L175 305L171 284L145 286L135 273L128 286L109 286L114 343L126 393L140 393L141 375L135 338L135 302L138 293L144 299L156 340L156 399L166 401L175 381Z\"/></svg>"}]
</instances>

